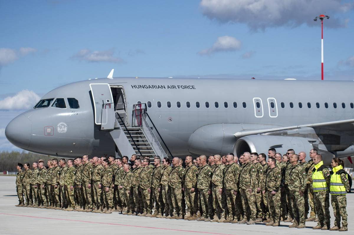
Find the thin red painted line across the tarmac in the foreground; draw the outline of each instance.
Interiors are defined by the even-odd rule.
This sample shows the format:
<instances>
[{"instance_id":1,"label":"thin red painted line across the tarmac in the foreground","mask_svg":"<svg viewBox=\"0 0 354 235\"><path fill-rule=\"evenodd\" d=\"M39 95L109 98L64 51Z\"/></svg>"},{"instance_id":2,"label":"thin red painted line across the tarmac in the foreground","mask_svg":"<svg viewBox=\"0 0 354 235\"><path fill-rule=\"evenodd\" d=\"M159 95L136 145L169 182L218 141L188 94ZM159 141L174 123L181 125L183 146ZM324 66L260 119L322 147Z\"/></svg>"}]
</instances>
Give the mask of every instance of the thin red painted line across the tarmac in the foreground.
<instances>
[{"instance_id":1,"label":"thin red painted line across the tarmac in the foreground","mask_svg":"<svg viewBox=\"0 0 354 235\"><path fill-rule=\"evenodd\" d=\"M216 235L232 235L232 234L224 234L224 233L211 233L211 232L202 232L202 231L193 231L193 230L170 229L170 228L157 228L157 227L147 227L147 226L129 225L129 224L114 224L114 223L84 221L84 220L76 220L76 219L60 219L60 218L39 217L39 216L15 215L15 214L7 214L7 213L0 213L0 215L22 216L22 217L39 218L39 219L54 219L54 220L84 222L84 223L92 223L92 224L119 225L119 226L136 227L136 228L162 229L162 230L172 230L172 231L181 231L181 232L190 232L190 233L203 233L203 234L216 234Z\"/></svg>"}]
</instances>

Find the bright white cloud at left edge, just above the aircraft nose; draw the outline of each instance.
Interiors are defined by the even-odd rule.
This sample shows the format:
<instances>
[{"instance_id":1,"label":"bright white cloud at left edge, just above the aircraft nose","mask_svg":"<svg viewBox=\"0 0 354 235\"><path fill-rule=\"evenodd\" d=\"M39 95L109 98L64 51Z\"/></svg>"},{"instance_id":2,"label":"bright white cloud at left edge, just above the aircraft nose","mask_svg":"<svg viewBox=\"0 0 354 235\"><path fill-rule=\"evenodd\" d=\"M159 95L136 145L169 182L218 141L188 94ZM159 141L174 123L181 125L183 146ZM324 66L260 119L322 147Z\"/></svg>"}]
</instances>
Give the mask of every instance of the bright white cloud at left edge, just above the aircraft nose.
<instances>
[{"instance_id":1,"label":"bright white cloud at left edge, just above the aircraft nose","mask_svg":"<svg viewBox=\"0 0 354 235\"><path fill-rule=\"evenodd\" d=\"M0 100L0 109L29 109L39 100L40 97L33 91L22 90L14 96Z\"/></svg>"}]
</instances>

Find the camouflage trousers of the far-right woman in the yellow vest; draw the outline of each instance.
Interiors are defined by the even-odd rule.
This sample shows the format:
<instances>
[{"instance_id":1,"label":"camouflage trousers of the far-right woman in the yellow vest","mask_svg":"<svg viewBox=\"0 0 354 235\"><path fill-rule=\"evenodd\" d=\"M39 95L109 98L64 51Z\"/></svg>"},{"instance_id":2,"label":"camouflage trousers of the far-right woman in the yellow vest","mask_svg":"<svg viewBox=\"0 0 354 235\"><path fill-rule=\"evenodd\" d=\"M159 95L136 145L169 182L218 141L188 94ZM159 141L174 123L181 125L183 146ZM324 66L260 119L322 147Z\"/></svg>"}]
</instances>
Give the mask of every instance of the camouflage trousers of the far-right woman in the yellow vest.
<instances>
[{"instance_id":1,"label":"camouflage trousers of the far-right woman in the yellow vest","mask_svg":"<svg viewBox=\"0 0 354 235\"><path fill-rule=\"evenodd\" d=\"M331 203L333 207L333 213L335 217L334 225L338 228L342 225L348 226L348 214L347 214L347 196L346 195L331 195Z\"/></svg>"}]
</instances>

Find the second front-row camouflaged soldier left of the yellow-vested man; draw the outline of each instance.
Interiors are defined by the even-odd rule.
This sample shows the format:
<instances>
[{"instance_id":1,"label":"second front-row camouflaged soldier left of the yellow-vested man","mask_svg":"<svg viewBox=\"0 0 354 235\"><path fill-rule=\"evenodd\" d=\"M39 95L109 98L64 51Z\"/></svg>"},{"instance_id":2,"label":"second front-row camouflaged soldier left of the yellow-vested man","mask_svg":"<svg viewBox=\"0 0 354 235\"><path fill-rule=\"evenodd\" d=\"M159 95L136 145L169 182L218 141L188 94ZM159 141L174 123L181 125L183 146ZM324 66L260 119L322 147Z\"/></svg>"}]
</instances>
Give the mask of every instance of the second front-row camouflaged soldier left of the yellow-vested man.
<instances>
[{"instance_id":1,"label":"second front-row camouflaged soldier left of the yellow-vested man","mask_svg":"<svg viewBox=\"0 0 354 235\"><path fill-rule=\"evenodd\" d=\"M267 205L269 209L269 222L267 226L279 226L280 217L280 181L281 174L279 168L275 167L276 159L268 159L269 170L265 173L263 194L267 195Z\"/></svg>"}]
</instances>

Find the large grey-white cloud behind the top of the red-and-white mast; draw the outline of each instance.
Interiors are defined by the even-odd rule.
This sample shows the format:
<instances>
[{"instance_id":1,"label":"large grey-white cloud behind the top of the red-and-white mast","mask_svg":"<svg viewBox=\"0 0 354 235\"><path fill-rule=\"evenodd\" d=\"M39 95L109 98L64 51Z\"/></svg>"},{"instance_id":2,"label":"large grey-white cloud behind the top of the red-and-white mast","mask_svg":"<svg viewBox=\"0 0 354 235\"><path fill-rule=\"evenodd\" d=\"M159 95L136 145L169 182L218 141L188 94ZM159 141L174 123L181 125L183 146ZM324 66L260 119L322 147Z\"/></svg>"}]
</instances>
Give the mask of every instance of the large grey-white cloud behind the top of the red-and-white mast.
<instances>
[{"instance_id":1,"label":"large grey-white cloud behind the top of the red-and-white mast","mask_svg":"<svg viewBox=\"0 0 354 235\"><path fill-rule=\"evenodd\" d=\"M354 3L342 0L201 0L200 8L210 19L247 24L252 30L318 25L313 19L324 12L331 16L325 26L342 28L348 19L338 18L336 14L352 10Z\"/></svg>"}]
</instances>

